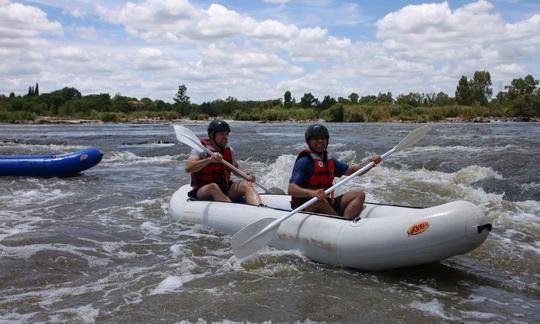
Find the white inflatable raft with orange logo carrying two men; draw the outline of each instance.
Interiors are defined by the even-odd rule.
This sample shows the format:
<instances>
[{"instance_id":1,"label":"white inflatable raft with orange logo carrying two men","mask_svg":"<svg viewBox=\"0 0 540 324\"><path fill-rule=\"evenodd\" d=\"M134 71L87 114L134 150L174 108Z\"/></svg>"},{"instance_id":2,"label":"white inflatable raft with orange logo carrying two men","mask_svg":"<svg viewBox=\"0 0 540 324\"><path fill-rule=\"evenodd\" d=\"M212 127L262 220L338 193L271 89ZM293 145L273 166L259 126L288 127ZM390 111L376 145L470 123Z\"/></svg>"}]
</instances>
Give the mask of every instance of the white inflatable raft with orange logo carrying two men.
<instances>
[{"instance_id":1,"label":"white inflatable raft with orange logo carrying two men","mask_svg":"<svg viewBox=\"0 0 540 324\"><path fill-rule=\"evenodd\" d=\"M191 200L182 186L170 201L173 220L233 235L263 218L290 210L290 196L261 194L268 207ZM429 208L366 203L354 220L299 212L281 223L270 246L298 250L311 260L361 270L384 270L440 261L478 247L491 224L476 205L455 201Z\"/></svg>"}]
</instances>

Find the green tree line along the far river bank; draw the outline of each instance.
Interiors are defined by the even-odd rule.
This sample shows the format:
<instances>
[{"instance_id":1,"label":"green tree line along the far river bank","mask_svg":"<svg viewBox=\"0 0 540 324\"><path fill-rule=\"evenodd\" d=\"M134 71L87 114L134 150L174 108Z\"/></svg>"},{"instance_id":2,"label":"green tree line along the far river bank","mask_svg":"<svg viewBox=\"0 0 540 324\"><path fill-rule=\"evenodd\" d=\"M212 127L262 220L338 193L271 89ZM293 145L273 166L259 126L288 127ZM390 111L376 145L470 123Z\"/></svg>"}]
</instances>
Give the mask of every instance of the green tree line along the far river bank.
<instances>
[{"instance_id":1,"label":"green tree line along the far river bank","mask_svg":"<svg viewBox=\"0 0 540 324\"><path fill-rule=\"evenodd\" d=\"M539 81L531 75L512 80L495 97L487 71L476 71L471 79L462 76L454 96L444 92L400 94L391 92L319 100L304 93L297 101L290 91L282 98L239 101L234 97L201 104L192 103L185 84L178 87L172 103L108 93L83 96L73 87L39 93L31 86L24 96L0 95L0 121L36 120L40 117L129 122L137 119L192 120L225 117L235 120L314 120L333 122L440 121L447 118L472 120L476 117L540 118Z\"/></svg>"}]
</instances>

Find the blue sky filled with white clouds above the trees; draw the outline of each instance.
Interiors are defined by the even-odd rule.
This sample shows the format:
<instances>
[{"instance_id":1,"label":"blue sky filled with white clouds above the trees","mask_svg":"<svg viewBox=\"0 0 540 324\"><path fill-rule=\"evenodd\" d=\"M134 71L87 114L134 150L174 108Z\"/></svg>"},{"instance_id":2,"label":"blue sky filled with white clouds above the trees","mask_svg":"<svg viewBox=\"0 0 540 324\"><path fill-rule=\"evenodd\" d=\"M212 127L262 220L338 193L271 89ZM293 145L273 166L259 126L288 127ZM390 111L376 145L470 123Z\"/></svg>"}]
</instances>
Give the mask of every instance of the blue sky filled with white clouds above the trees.
<instances>
[{"instance_id":1,"label":"blue sky filled with white clouds above the trees","mask_svg":"<svg viewBox=\"0 0 540 324\"><path fill-rule=\"evenodd\" d=\"M0 0L0 94L454 96L540 78L540 1Z\"/></svg>"}]
</instances>

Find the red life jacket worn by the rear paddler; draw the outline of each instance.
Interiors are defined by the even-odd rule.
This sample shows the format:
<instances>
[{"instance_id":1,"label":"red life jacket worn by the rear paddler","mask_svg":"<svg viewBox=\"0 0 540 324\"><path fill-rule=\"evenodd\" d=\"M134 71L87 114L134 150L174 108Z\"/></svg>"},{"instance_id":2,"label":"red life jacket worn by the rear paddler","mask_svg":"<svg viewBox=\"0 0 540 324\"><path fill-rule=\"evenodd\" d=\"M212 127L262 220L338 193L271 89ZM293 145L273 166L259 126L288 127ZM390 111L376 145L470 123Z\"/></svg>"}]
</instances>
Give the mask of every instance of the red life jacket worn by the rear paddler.
<instances>
[{"instance_id":1,"label":"red life jacket worn by the rear paddler","mask_svg":"<svg viewBox=\"0 0 540 324\"><path fill-rule=\"evenodd\" d=\"M201 144L213 151L214 147L209 139L201 140ZM222 152L223 159L230 164L233 164L233 156L230 147L225 147ZM210 156L209 154L206 155ZM209 183L216 183L221 191L227 193L230 183L230 171L223 163L210 163L198 172L191 173L191 186L200 188Z\"/></svg>"}]
</instances>

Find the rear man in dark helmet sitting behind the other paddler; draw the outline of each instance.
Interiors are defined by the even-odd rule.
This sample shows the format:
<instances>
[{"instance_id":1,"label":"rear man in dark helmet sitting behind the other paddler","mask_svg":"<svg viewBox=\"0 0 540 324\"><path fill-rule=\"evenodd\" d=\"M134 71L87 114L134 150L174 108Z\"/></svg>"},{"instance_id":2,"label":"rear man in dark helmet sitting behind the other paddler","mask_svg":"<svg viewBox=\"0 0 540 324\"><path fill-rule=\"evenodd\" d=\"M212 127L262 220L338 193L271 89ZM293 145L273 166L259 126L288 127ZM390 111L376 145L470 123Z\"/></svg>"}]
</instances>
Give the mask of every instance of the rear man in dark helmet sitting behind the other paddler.
<instances>
[{"instance_id":1,"label":"rear man in dark helmet sitting behind the other paddler","mask_svg":"<svg viewBox=\"0 0 540 324\"><path fill-rule=\"evenodd\" d=\"M222 202L238 201L243 195L250 205L261 205L261 197L250 182L255 182L255 176L249 176L248 181L230 180L229 168L222 160L238 167L234 159L234 151L228 145L229 124L223 120L213 120L208 125L208 138L201 144L210 149L212 155L200 153L193 149L186 162L186 172L191 173L193 190L188 196L193 199L215 200Z\"/></svg>"}]
</instances>

